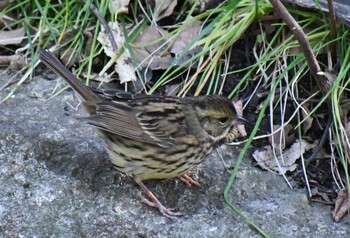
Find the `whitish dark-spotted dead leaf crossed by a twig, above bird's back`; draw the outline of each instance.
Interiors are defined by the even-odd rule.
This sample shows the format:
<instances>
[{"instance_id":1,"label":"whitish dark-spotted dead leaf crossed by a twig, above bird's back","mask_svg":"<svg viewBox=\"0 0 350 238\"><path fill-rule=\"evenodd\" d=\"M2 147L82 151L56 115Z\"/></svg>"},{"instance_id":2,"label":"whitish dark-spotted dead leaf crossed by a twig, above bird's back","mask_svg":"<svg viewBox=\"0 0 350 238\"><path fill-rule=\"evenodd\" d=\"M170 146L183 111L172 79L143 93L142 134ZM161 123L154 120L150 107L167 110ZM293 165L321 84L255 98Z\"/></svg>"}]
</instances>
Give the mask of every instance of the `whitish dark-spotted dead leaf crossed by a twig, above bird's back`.
<instances>
[{"instance_id":1,"label":"whitish dark-spotted dead leaf crossed by a twig, above bird's back","mask_svg":"<svg viewBox=\"0 0 350 238\"><path fill-rule=\"evenodd\" d=\"M122 46L124 44L124 36L123 33L119 29L118 22L110 22L108 23L113 37L116 41L117 46ZM104 28L98 34L97 40L103 45L104 52L107 56L114 59L116 56L116 52L114 52L112 44L109 40L109 37ZM121 47L119 47L121 48ZM112 62L107 64L105 67L109 67ZM102 70L105 71L106 69ZM135 69L132 64L132 60L128 50L125 50L119 58L115 62L114 66L115 72L119 75L120 83L136 81L137 77L135 74Z\"/></svg>"}]
</instances>

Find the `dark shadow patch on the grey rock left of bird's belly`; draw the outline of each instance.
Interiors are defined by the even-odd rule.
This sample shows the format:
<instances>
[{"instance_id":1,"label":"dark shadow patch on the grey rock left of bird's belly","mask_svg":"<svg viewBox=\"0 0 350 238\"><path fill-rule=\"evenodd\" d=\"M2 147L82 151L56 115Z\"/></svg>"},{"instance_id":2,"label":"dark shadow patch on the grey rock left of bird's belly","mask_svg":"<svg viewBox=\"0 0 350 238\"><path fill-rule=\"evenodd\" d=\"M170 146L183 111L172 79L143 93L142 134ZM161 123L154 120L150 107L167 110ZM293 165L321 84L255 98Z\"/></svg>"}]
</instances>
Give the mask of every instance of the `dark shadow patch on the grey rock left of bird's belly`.
<instances>
[{"instance_id":1,"label":"dark shadow patch on the grey rock left of bird's belly","mask_svg":"<svg viewBox=\"0 0 350 238\"><path fill-rule=\"evenodd\" d=\"M84 181L93 191L110 186L122 176L113 168L107 153L91 143L86 149L72 141L49 139L38 141L34 153L49 170Z\"/></svg>"}]
</instances>

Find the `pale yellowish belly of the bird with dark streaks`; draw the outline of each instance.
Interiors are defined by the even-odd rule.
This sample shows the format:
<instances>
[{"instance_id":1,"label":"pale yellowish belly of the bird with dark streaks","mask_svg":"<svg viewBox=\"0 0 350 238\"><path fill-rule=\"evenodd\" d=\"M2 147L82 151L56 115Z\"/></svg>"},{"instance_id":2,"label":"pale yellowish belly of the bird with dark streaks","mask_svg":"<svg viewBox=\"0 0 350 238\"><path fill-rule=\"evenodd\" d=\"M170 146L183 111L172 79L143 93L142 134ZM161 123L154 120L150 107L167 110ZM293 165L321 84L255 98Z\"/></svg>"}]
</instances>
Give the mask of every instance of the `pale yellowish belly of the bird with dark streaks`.
<instances>
[{"instance_id":1,"label":"pale yellowish belly of the bird with dark streaks","mask_svg":"<svg viewBox=\"0 0 350 238\"><path fill-rule=\"evenodd\" d=\"M181 142L181 143L180 143ZM107 147L115 168L135 179L174 178L201 163L212 147L199 146L193 140L180 141L170 148L114 137Z\"/></svg>"}]
</instances>

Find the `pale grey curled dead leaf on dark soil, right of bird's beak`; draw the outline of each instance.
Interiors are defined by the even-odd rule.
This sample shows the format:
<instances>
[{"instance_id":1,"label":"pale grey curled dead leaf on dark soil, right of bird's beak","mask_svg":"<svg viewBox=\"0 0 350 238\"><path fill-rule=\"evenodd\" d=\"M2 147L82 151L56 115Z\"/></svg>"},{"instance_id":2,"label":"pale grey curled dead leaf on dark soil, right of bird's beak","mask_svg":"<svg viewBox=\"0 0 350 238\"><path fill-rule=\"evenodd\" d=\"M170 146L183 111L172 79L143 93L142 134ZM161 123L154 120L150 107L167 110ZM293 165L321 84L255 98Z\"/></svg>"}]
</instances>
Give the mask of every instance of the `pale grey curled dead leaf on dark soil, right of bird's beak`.
<instances>
[{"instance_id":1,"label":"pale grey curled dead leaf on dark soil, right of bird's beak","mask_svg":"<svg viewBox=\"0 0 350 238\"><path fill-rule=\"evenodd\" d=\"M261 168L282 175L287 171L294 171L297 168L295 162L300 156L315 146L316 144L310 144L305 140L300 142L297 140L289 149L283 151L283 155L276 151L277 158L275 158L271 146L265 146L263 149L254 151L253 157Z\"/></svg>"}]
</instances>

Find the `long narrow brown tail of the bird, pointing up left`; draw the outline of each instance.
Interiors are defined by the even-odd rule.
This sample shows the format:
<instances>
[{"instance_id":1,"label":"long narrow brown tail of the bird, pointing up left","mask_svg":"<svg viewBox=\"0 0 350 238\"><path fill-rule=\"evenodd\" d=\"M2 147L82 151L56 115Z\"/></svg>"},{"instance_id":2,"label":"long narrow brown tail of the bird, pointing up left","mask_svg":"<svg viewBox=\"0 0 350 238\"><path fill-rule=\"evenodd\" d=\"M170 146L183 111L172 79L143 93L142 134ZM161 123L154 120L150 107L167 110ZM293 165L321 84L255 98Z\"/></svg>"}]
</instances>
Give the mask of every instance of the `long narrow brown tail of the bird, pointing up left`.
<instances>
[{"instance_id":1,"label":"long narrow brown tail of the bird, pointing up left","mask_svg":"<svg viewBox=\"0 0 350 238\"><path fill-rule=\"evenodd\" d=\"M98 100L98 96L75 77L50 51L40 49L39 58L52 71L64 78L84 101Z\"/></svg>"}]
</instances>

